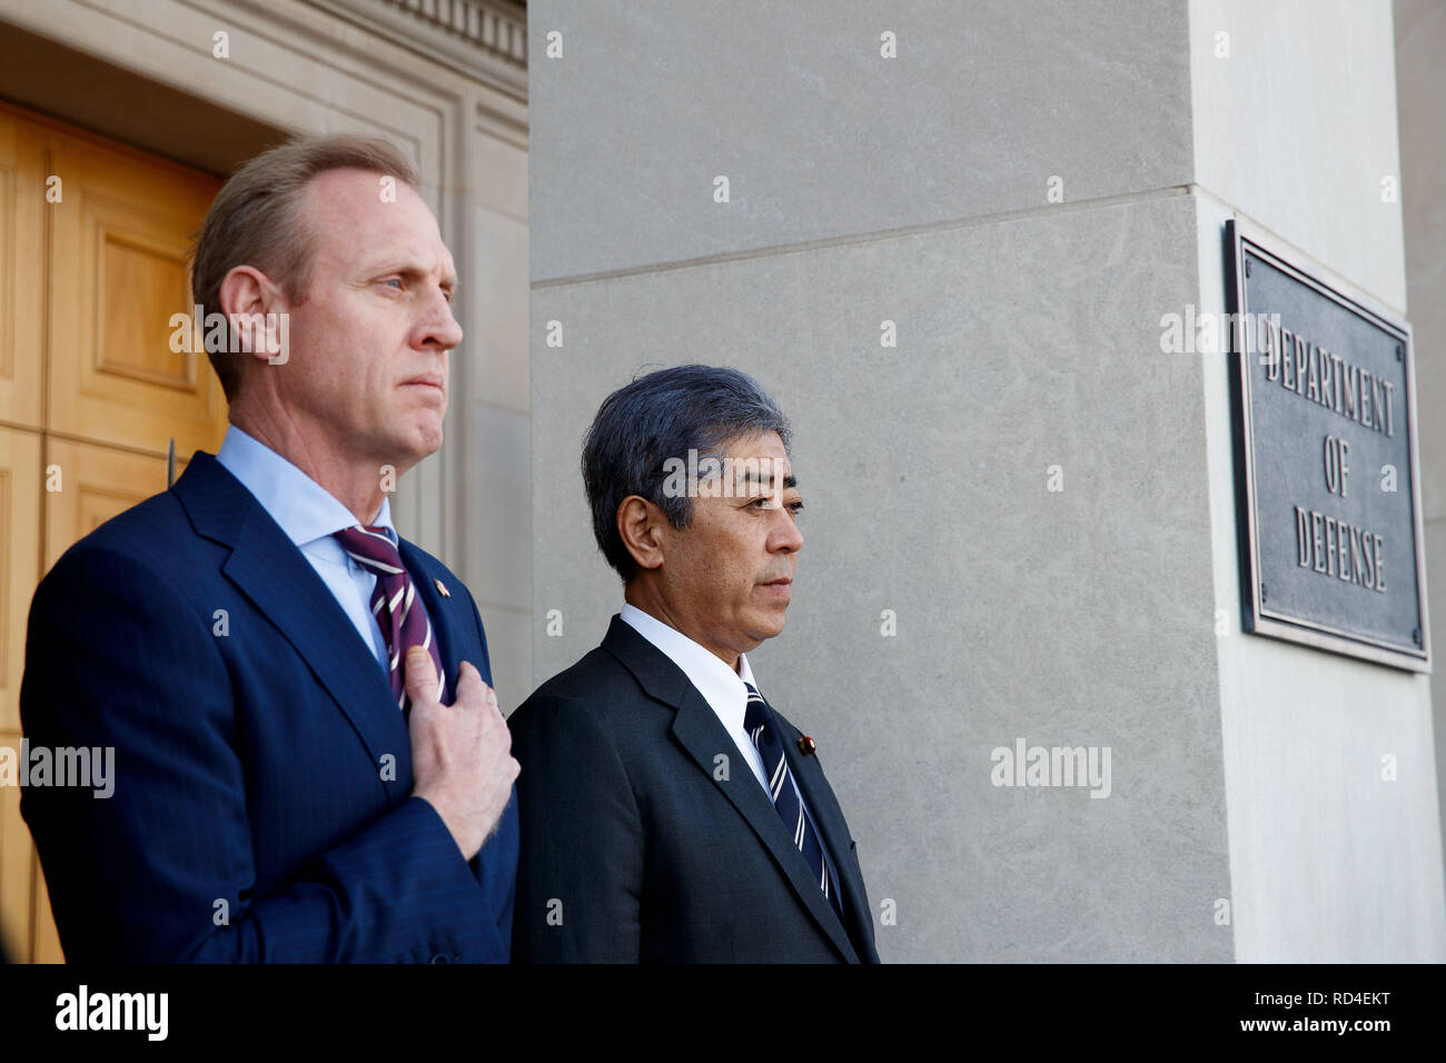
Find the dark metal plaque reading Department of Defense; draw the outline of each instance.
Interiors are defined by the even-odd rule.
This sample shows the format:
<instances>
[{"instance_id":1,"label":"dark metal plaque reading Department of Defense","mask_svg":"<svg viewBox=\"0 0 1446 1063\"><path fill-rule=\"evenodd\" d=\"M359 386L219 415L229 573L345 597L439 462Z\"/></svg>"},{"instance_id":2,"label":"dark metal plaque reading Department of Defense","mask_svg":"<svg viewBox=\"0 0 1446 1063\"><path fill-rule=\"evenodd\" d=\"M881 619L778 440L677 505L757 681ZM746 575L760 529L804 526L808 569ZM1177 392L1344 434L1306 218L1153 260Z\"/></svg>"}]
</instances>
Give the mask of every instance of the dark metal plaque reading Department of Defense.
<instances>
[{"instance_id":1,"label":"dark metal plaque reading Department of Defense","mask_svg":"<svg viewBox=\"0 0 1446 1063\"><path fill-rule=\"evenodd\" d=\"M1410 325L1228 224L1245 631L1430 671Z\"/></svg>"}]
</instances>

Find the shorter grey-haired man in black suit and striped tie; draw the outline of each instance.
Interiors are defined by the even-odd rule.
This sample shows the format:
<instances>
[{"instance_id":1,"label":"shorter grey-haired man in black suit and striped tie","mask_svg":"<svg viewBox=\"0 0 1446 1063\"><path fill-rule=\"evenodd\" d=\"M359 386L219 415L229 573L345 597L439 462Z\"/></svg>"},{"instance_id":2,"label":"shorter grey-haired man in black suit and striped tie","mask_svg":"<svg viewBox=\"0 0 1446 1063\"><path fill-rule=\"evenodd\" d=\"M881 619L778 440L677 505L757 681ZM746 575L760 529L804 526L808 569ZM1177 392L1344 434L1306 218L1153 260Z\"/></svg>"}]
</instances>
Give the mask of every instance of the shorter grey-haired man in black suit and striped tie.
<instances>
[{"instance_id":1,"label":"shorter grey-haired man in black suit and striped tie","mask_svg":"<svg viewBox=\"0 0 1446 1063\"><path fill-rule=\"evenodd\" d=\"M732 369L659 370L599 409L583 477L626 605L509 720L515 959L879 962L813 739L746 657L784 629L803 547L788 440Z\"/></svg>"}]
</instances>

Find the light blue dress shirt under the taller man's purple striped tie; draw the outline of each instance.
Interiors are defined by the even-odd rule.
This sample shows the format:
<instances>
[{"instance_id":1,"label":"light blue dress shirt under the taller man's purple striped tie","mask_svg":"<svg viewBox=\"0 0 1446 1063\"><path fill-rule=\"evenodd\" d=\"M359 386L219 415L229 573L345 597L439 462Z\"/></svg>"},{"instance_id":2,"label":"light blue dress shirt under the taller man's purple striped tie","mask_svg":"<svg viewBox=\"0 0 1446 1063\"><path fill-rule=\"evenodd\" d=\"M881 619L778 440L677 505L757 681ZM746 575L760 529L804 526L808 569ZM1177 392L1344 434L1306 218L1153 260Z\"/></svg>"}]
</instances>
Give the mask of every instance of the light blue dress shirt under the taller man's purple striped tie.
<instances>
[{"instance_id":1,"label":"light blue dress shirt under the taller man's purple striped tie","mask_svg":"<svg viewBox=\"0 0 1446 1063\"><path fill-rule=\"evenodd\" d=\"M363 644L372 646L377 665L390 675L386 639L372 613L376 576L353 561L341 544L331 538L331 532L354 526L356 515L291 461L236 425L226 430L215 460L256 496L286 532L286 538L305 554L356 626ZM372 526L385 528L392 542L398 541L396 528L392 526L392 503L386 496L382 498L382 512Z\"/></svg>"}]
</instances>

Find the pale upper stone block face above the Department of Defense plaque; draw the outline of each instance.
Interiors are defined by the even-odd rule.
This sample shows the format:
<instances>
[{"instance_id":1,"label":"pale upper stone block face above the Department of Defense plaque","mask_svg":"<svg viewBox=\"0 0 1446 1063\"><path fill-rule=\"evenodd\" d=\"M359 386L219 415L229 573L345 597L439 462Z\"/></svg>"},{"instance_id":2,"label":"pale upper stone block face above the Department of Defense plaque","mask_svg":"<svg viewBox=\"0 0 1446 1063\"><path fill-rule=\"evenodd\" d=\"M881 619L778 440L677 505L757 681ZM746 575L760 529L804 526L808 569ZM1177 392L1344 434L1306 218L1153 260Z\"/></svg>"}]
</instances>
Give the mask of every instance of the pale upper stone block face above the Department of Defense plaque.
<instances>
[{"instance_id":1,"label":"pale upper stone block face above the Department of Defense plaque","mask_svg":"<svg viewBox=\"0 0 1446 1063\"><path fill-rule=\"evenodd\" d=\"M1190 3L1196 184L1401 309L1394 51L1390 0Z\"/></svg>"}]
</instances>

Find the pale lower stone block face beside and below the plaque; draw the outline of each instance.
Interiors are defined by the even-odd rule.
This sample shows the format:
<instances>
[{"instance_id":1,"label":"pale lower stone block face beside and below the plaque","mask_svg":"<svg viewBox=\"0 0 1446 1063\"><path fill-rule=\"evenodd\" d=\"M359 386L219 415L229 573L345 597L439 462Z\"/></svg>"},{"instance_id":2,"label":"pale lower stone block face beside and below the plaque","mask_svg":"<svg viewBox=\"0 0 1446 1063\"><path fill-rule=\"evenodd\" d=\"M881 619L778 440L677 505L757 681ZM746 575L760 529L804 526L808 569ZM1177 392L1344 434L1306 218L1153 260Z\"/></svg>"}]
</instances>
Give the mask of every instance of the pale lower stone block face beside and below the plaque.
<instances>
[{"instance_id":1,"label":"pale lower stone block face beside and below the plaque","mask_svg":"<svg viewBox=\"0 0 1446 1063\"><path fill-rule=\"evenodd\" d=\"M1229 215L1199 200L1202 307L1225 307ZM1242 633L1229 375L1203 367L1235 957L1439 963L1430 680Z\"/></svg>"}]
</instances>

